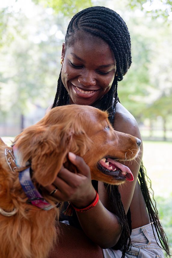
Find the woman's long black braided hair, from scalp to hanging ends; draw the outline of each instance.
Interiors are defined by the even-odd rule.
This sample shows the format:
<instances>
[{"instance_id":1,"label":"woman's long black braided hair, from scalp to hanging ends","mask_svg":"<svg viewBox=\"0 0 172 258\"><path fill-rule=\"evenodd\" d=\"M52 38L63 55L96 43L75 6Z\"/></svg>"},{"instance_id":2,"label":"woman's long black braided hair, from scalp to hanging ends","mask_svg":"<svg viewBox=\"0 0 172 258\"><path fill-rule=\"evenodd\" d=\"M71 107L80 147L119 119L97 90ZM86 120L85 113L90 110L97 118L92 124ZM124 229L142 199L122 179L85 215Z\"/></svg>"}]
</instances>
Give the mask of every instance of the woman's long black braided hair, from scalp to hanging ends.
<instances>
[{"instance_id":1,"label":"woman's long black braided hair, from scalp to hanging ends","mask_svg":"<svg viewBox=\"0 0 172 258\"><path fill-rule=\"evenodd\" d=\"M118 13L106 7L95 6L84 9L73 16L66 32L66 47L74 44L76 33L80 30L103 39L114 53L116 60L115 78L112 82L110 90L102 97L99 107L101 110L108 110L109 120L113 124L116 103L119 101L117 93L118 81L123 79L123 76L125 73L127 73L127 70L131 66L131 40L128 28ZM69 95L63 85L60 71L60 76L57 83L57 92L52 108L66 104L69 104ZM149 195L143 164L141 164L140 167L138 180L146 202L150 221L154 223L155 230L158 233L158 238L162 244L162 247L169 255L167 237L158 219L156 205L154 207ZM131 245L127 217L124 212L118 187L114 185L109 186L108 184L105 184L105 187L109 193L109 202L111 203L110 206L112 207L111 211L119 217L119 221L121 223L121 236L114 249L123 248L123 258L125 256L125 252Z\"/></svg>"}]
</instances>

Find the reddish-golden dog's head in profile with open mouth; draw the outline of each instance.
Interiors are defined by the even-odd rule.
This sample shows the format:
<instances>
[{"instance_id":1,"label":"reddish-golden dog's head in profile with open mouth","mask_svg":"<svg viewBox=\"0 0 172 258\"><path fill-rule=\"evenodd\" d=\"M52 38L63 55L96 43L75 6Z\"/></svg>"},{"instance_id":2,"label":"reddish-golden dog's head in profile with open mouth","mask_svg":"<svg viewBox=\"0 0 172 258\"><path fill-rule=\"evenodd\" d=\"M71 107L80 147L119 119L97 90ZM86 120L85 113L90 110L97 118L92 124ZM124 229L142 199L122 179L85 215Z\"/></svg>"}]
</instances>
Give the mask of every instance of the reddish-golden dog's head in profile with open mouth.
<instances>
[{"instance_id":1,"label":"reddish-golden dog's head in profile with open mouth","mask_svg":"<svg viewBox=\"0 0 172 258\"><path fill-rule=\"evenodd\" d=\"M138 139L113 130L107 112L79 105L55 107L17 136L14 144L22 166L30 161L35 180L43 186L55 180L69 151L84 158L92 179L120 184L126 176L119 173L116 159L131 160L139 151Z\"/></svg>"}]
</instances>

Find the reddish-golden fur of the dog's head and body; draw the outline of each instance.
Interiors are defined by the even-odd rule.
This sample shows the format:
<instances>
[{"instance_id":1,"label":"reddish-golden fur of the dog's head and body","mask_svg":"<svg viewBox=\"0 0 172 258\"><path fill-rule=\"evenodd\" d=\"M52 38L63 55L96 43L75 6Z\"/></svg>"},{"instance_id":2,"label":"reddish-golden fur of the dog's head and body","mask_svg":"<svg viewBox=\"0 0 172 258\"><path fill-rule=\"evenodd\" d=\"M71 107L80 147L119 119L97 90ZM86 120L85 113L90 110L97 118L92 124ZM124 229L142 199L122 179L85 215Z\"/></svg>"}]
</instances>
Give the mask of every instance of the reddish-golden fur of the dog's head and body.
<instances>
[{"instance_id":1,"label":"reddish-golden fur of the dog's head and body","mask_svg":"<svg viewBox=\"0 0 172 258\"><path fill-rule=\"evenodd\" d=\"M107 112L90 106L69 105L49 111L40 122L18 135L14 144L22 155L22 165L31 162L32 180L38 185L54 182L69 151L84 158L92 179L121 184L123 181L101 173L97 163L104 157L135 158L139 151L137 140L113 130ZM0 257L46 258L56 240L55 219L59 208L45 211L26 203L18 172L12 173L5 160L6 147L1 140L0 207L5 211L12 211L14 207L19 210L12 217L0 214ZM46 190L42 195L54 203Z\"/></svg>"}]
</instances>

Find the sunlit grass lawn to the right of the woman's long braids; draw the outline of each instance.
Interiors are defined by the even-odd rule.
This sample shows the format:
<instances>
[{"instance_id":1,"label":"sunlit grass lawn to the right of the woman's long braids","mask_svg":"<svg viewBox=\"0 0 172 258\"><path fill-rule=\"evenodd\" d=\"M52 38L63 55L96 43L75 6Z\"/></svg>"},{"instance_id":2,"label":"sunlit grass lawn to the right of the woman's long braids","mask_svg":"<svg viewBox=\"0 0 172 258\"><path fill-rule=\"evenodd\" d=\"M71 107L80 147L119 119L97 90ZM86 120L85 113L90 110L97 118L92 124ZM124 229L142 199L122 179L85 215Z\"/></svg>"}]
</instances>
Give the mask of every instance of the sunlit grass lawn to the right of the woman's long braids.
<instances>
[{"instance_id":1,"label":"sunlit grass lawn to the right of the woman's long braids","mask_svg":"<svg viewBox=\"0 0 172 258\"><path fill-rule=\"evenodd\" d=\"M152 181L159 218L172 254L172 142L143 142L143 163Z\"/></svg>"}]
</instances>

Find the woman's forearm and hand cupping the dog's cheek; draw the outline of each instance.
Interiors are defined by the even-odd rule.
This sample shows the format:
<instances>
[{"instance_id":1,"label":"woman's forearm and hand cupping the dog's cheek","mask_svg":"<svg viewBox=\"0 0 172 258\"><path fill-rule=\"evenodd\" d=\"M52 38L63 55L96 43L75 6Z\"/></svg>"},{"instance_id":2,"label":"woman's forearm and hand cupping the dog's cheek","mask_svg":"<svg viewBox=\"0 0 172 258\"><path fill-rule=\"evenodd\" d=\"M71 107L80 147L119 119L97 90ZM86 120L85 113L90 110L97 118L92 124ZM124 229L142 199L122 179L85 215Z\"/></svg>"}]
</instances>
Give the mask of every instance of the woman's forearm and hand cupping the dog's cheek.
<instances>
[{"instance_id":1,"label":"woman's forearm and hand cupping the dog's cheek","mask_svg":"<svg viewBox=\"0 0 172 258\"><path fill-rule=\"evenodd\" d=\"M56 186L58 191L53 196L58 200L71 201L78 208L87 207L96 196L90 168L79 156L69 155L69 159L77 167L78 173L74 174L62 167L53 185L46 189L51 191ZM121 235L118 217L106 209L101 200L92 210L77 212L77 215L84 232L94 243L102 248L112 247L117 243Z\"/></svg>"}]
</instances>

